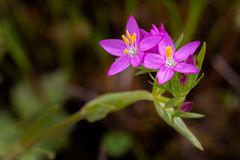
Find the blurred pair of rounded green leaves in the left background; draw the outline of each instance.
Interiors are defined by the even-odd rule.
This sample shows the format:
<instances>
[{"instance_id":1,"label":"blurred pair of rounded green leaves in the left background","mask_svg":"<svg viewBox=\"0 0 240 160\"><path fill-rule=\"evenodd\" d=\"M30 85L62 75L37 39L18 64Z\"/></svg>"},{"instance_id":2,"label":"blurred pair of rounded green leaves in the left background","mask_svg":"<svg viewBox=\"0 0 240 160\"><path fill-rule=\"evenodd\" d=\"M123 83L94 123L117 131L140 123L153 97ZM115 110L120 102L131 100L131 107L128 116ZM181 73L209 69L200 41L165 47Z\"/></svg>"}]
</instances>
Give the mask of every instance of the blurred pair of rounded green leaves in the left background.
<instances>
[{"instance_id":1,"label":"blurred pair of rounded green leaves in the left background","mask_svg":"<svg viewBox=\"0 0 240 160\"><path fill-rule=\"evenodd\" d=\"M46 103L62 104L67 98L64 92L66 79L63 72L46 75L38 82L42 85L40 91L33 90L36 86L29 81L19 82L11 92L14 111L21 119L29 119L41 112Z\"/></svg>"}]
</instances>

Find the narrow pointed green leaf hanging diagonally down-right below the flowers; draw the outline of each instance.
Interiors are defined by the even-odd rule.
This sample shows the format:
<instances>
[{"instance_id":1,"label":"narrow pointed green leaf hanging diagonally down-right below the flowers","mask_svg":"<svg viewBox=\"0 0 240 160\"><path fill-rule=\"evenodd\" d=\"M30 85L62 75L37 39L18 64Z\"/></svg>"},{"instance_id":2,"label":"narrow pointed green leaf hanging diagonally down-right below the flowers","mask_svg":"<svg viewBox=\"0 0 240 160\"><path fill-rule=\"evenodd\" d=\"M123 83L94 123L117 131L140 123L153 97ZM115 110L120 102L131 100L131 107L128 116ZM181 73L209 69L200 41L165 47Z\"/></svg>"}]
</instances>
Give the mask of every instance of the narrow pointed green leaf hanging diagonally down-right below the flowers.
<instances>
[{"instance_id":1,"label":"narrow pointed green leaf hanging diagonally down-right below the flowers","mask_svg":"<svg viewBox=\"0 0 240 160\"><path fill-rule=\"evenodd\" d=\"M163 103L154 103L155 109L158 115L170 126L172 126L176 131L187 138L196 148L203 150L203 147L199 140L193 135L193 133L188 129L183 120L179 117L173 118L172 112L163 107ZM169 108L172 109L172 108Z\"/></svg>"}]
</instances>

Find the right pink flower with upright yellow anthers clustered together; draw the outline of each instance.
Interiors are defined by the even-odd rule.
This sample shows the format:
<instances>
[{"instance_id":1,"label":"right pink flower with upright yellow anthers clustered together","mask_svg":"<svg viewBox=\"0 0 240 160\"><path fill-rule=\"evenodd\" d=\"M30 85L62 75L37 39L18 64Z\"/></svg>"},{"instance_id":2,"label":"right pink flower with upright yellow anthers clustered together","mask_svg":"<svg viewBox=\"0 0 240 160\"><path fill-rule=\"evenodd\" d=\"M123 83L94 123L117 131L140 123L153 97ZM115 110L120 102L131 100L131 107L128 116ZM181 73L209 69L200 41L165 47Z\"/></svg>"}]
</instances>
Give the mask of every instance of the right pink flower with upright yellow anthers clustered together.
<instances>
[{"instance_id":1,"label":"right pink flower with upright yellow anthers clustered together","mask_svg":"<svg viewBox=\"0 0 240 160\"><path fill-rule=\"evenodd\" d=\"M190 42L175 51L173 40L165 31L163 25L161 25L159 29L154 27L150 31L152 34L157 34L158 32L163 36L158 44L158 52L157 54L147 53L143 62L143 66L146 68L158 70L158 83L163 84L169 81L173 77L174 72L184 74L198 73L197 67L186 63L186 59L194 54L200 42Z\"/></svg>"}]
</instances>

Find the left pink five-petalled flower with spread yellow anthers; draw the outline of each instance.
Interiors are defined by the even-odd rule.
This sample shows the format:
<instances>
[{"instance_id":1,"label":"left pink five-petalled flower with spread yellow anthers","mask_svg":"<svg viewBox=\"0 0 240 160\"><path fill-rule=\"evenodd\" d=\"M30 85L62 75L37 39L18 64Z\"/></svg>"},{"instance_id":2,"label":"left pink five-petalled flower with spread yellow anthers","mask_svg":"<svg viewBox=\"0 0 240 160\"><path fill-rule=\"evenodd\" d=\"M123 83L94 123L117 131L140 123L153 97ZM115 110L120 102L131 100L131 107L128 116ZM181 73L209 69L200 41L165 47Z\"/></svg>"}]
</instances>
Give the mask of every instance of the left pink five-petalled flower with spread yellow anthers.
<instances>
[{"instance_id":1,"label":"left pink five-petalled flower with spread yellow anthers","mask_svg":"<svg viewBox=\"0 0 240 160\"><path fill-rule=\"evenodd\" d=\"M108 75L117 74L130 65L137 67L142 64L145 51L153 48L162 36L150 36L142 29L133 16L130 16L126 25L126 33L120 39L101 40L99 44L111 55L116 56L116 61L111 65Z\"/></svg>"}]
</instances>

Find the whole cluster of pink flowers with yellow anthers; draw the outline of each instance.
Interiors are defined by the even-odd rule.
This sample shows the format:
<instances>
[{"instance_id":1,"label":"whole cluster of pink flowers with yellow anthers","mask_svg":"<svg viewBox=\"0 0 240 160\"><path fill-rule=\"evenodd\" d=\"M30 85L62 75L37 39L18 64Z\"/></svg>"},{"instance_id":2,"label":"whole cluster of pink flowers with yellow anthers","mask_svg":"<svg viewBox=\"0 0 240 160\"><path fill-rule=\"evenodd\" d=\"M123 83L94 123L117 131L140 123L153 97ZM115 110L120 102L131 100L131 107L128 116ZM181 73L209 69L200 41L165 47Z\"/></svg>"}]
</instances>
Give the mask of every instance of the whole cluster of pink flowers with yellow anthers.
<instances>
[{"instance_id":1,"label":"whole cluster of pink flowers with yellow anthers","mask_svg":"<svg viewBox=\"0 0 240 160\"><path fill-rule=\"evenodd\" d=\"M183 73L183 78L186 74L199 72L193 54L200 42L190 42L175 50L173 40L163 24L159 28L152 25L152 29L146 32L139 28L135 18L130 16L126 33L122 35L121 40L106 39L101 40L99 44L109 54L117 57L108 71L109 76L125 70L130 65L144 66L157 70L158 84L164 84L173 77L174 72ZM184 83L184 79L182 81Z\"/></svg>"}]
</instances>

